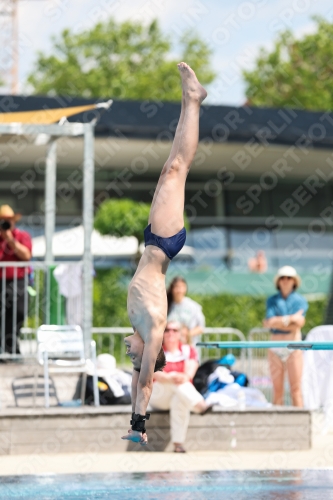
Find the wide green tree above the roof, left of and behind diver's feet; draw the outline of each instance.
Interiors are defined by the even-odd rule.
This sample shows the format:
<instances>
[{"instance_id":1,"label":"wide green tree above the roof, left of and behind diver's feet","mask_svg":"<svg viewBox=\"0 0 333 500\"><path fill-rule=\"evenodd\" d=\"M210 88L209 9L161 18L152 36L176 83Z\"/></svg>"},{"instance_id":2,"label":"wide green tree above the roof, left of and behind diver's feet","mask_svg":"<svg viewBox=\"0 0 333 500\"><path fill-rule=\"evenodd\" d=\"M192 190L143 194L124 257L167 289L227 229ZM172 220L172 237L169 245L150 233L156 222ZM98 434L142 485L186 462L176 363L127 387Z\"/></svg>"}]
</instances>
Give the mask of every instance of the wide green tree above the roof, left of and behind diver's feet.
<instances>
[{"instance_id":1,"label":"wide green tree above the roof, left of and behind diver's feet","mask_svg":"<svg viewBox=\"0 0 333 500\"><path fill-rule=\"evenodd\" d=\"M173 43L180 46L175 58ZM75 34L53 37L52 55L39 52L28 82L38 94L124 99L181 99L176 63L193 65L203 84L213 81L211 50L193 32L180 39L150 24L109 19Z\"/></svg>"}]
</instances>

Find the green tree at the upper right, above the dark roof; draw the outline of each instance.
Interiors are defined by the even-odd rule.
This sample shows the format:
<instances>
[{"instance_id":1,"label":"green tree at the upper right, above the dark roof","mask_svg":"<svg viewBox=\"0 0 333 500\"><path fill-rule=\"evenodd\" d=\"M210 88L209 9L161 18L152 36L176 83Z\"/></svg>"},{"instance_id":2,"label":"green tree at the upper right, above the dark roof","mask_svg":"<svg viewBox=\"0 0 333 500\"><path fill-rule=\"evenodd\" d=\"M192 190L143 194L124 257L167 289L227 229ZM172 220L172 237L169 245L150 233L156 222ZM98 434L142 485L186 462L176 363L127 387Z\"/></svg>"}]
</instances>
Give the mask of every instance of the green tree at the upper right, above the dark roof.
<instances>
[{"instance_id":1,"label":"green tree at the upper right, above the dark roof","mask_svg":"<svg viewBox=\"0 0 333 500\"><path fill-rule=\"evenodd\" d=\"M260 50L253 71L243 71L250 105L333 109L333 23L314 20L315 33L296 39L284 31L271 52Z\"/></svg>"}]
</instances>

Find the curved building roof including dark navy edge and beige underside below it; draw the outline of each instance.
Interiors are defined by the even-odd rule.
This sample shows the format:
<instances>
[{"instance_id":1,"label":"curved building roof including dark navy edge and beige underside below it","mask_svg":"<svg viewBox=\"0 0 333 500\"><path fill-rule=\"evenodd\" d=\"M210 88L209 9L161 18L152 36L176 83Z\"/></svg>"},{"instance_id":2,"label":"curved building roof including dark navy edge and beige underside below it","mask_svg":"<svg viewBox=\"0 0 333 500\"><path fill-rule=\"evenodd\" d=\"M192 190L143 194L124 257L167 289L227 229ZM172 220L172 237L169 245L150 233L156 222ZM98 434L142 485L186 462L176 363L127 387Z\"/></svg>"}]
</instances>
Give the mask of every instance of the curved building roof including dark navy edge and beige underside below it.
<instances>
[{"instance_id":1,"label":"curved building roof including dark navy edge and beige underside below it","mask_svg":"<svg viewBox=\"0 0 333 500\"><path fill-rule=\"evenodd\" d=\"M105 100L0 96L0 112L65 108ZM132 177L146 173L156 176L168 158L179 112L177 103L116 100L108 110L87 111L69 121L87 122L98 117L96 168L117 172L130 169ZM292 109L202 106L200 120L201 142L191 176L208 179L223 169L238 178L258 179L277 168L283 180L281 169L287 168L289 179L304 179L320 168L331 179L332 158L328 156L333 148L333 115ZM47 151L47 146L38 144L34 137L13 140L1 136L0 142L13 173L38 164ZM82 137L59 139L58 143L58 168L67 171L80 167ZM287 167L281 167L281 162Z\"/></svg>"}]
</instances>

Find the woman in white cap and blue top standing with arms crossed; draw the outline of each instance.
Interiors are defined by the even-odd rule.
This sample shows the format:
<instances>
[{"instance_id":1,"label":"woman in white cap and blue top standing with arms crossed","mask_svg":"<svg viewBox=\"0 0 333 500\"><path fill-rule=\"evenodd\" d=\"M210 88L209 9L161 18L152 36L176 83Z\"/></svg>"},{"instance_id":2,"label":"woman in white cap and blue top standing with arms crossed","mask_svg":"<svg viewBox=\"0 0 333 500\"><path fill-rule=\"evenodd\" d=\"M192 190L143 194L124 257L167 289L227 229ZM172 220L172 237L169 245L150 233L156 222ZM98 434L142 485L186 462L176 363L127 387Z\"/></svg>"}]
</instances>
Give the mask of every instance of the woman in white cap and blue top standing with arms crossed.
<instances>
[{"instance_id":1,"label":"woman in white cap and blue top standing with arms crossed","mask_svg":"<svg viewBox=\"0 0 333 500\"><path fill-rule=\"evenodd\" d=\"M305 298L296 292L301 284L296 269L291 266L281 267L274 278L274 284L278 293L267 300L263 325L271 329L272 340L302 340L301 328L305 324L305 313L309 306ZM268 351L268 359L274 389L273 403L283 404L284 372L287 368L293 405L302 407L302 351L273 347Z\"/></svg>"}]
</instances>

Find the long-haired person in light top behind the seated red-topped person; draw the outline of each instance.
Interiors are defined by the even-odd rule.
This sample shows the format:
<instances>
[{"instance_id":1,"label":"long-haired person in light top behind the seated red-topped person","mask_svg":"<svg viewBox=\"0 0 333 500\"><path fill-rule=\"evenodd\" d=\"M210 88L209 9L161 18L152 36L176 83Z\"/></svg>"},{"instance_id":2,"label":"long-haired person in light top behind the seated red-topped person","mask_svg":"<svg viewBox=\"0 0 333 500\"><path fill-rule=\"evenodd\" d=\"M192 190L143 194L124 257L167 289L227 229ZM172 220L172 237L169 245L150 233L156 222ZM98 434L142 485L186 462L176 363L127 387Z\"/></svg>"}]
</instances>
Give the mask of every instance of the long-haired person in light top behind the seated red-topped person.
<instances>
[{"instance_id":1,"label":"long-haired person in light top behind the seated red-topped person","mask_svg":"<svg viewBox=\"0 0 333 500\"><path fill-rule=\"evenodd\" d=\"M181 276L171 281L167 290L168 320L179 321L182 325L182 342L195 345L200 342L205 328L205 316L200 304L186 297L187 283Z\"/></svg>"}]
</instances>

